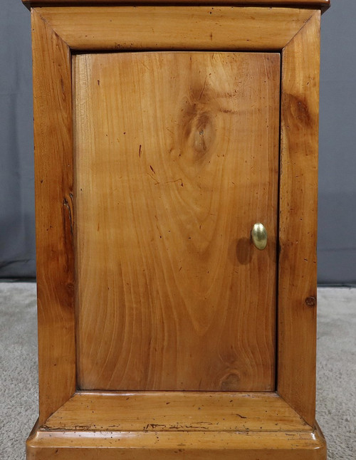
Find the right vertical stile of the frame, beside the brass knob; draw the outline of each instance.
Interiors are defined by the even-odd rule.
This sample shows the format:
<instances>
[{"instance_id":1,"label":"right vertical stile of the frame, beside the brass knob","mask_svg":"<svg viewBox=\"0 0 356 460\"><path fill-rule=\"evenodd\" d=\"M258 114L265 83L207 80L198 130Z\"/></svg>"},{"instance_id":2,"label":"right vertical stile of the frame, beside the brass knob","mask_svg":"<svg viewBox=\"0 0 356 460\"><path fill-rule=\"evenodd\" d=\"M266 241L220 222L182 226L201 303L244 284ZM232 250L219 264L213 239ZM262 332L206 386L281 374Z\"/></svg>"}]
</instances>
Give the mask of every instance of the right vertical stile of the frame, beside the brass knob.
<instances>
[{"instance_id":1,"label":"right vertical stile of the frame, beside the brass knob","mask_svg":"<svg viewBox=\"0 0 356 460\"><path fill-rule=\"evenodd\" d=\"M320 12L283 50L278 392L315 423Z\"/></svg>"}]
</instances>

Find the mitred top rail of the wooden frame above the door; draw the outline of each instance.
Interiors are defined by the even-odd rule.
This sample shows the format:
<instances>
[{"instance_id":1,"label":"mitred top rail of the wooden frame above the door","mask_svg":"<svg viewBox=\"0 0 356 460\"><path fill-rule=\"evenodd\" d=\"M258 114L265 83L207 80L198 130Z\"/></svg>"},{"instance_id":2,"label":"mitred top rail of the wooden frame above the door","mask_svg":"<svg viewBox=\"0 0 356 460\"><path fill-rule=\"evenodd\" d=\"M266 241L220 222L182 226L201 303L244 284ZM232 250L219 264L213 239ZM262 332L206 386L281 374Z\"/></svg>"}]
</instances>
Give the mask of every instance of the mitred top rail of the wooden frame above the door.
<instances>
[{"instance_id":1,"label":"mitred top rail of the wooden frame above the door","mask_svg":"<svg viewBox=\"0 0 356 460\"><path fill-rule=\"evenodd\" d=\"M73 6L36 11L79 51L281 51L314 12L252 6Z\"/></svg>"}]
</instances>

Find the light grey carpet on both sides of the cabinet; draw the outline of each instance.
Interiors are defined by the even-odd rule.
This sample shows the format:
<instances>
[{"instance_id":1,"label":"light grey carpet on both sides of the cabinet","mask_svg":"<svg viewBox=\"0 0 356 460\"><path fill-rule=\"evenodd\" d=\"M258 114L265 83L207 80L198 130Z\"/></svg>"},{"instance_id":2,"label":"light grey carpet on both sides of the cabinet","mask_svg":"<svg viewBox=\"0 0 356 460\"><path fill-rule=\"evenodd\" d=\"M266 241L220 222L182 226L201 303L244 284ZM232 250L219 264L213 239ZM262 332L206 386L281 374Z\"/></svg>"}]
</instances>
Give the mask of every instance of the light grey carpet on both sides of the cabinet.
<instances>
[{"instance_id":1,"label":"light grey carpet on both sides of the cabinet","mask_svg":"<svg viewBox=\"0 0 356 460\"><path fill-rule=\"evenodd\" d=\"M0 350L0 459L23 460L38 402L34 283L0 283ZM329 460L356 459L355 387L356 288L320 288L317 417Z\"/></svg>"}]
</instances>

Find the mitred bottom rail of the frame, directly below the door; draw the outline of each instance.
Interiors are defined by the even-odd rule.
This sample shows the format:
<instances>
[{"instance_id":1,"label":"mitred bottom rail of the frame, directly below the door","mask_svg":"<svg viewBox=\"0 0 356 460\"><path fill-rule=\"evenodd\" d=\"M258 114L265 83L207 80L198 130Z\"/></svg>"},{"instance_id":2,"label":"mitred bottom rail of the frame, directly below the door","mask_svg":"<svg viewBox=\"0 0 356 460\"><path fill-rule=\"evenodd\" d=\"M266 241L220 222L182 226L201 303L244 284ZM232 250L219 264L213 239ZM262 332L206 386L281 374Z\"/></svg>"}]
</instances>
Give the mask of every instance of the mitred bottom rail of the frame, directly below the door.
<instances>
[{"instance_id":1,"label":"mitred bottom rail of the frame, directly below the door","mask_svg":"<svg viewBox=\"0 0 356 460\"><path fill-rule=\"evenodd\" d=\"M303 432L310 427L271 392L78 392L43 429Z\"/></svg>"}]
</instances>

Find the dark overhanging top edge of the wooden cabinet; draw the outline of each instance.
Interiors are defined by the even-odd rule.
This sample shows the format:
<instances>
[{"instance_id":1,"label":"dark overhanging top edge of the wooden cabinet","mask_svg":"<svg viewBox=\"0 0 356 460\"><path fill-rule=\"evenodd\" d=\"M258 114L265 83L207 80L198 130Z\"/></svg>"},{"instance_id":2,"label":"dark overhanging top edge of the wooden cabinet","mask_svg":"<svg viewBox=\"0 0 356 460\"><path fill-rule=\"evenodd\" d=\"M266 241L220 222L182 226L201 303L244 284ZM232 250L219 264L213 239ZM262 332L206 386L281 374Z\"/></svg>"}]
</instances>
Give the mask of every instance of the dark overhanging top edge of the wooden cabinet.
<instances>
[{"instance_id":1,"label":"dark overhanging top edge of the wooden cabinet","mask_svg":"<svg viewBox=\"0 0 356 460\"><path fill-rule=\"evenodd\" d=\"M228 6L292 6L318 8L325 11L330 0L22 0L29 9L31 6L108 6L108 5L228 5Z\"/></svg>"}]
</instances>

